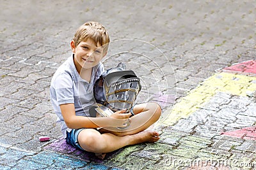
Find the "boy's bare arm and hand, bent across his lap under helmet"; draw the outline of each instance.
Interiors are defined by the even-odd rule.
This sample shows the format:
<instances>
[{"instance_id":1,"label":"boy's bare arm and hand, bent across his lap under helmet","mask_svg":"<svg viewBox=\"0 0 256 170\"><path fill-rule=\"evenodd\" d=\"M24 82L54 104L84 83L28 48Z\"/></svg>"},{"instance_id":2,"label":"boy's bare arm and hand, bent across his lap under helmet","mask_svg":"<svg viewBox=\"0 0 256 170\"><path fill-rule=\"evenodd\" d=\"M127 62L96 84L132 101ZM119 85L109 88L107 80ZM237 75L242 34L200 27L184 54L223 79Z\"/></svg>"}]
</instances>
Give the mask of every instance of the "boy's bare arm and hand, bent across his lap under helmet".
<instances>
[{"instance_id":1,"label":"boy's bare arm and hand, bent across his lap under helmet","mask_svg":"<svg viewBox=\"0 0 256 170\"><path fill-rule=\"evenodd\" d=\"M70 129L97 128L97 127L125 127L131 113L125 113L125 110L116 111L110 117L83 117L76 116L73 103L61 104L61 114L67 127Z\"/></svg>"}]
</instances>

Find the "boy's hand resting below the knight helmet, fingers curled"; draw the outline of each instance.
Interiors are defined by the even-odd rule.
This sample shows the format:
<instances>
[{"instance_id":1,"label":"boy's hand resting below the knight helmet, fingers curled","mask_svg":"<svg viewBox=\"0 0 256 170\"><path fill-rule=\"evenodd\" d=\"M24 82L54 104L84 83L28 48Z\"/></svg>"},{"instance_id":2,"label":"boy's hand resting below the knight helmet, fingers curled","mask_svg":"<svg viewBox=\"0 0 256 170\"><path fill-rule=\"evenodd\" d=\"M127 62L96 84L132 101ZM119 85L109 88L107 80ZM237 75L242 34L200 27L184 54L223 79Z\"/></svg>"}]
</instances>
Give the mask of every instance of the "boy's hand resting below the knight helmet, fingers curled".
<instances>
[{"instance_id":1,"label":"boy's hand resting below the knight helmet, fingers curled","mask_svg":"<svg viewBox=\"0 0 256 170\"><path fill-rule=\"evenodd\" d=\"M113 113L110 117L113 118L113 127L127 127L131 123L131 113L125 113L126 110L120 110Z\"/></svg>"}]
</instances>

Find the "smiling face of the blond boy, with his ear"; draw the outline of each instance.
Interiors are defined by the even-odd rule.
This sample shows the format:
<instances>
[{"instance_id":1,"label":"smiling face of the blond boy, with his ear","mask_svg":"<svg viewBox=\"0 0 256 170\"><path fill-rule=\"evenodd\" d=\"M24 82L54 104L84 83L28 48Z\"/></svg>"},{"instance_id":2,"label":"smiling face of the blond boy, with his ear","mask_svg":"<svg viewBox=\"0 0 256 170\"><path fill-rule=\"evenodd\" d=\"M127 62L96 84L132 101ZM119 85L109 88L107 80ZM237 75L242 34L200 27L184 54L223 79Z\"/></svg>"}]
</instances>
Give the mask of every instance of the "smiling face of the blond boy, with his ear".
<instances>
[{"instance_id":1,"label":"smiling face of the blond boy, with his ear","mask_svg":"<svg viewBox=\"0 0 256 170\"><path fill-rule=\"evenodd\" d=\"M74 41L71 42L72 52L74 53L74 63L76 67L83 67L84 69L90 69L97 64L106 55L103 47L88 38L86 41L81 41L79 45L75 47Z\"/></svg>"}]
</instances>

